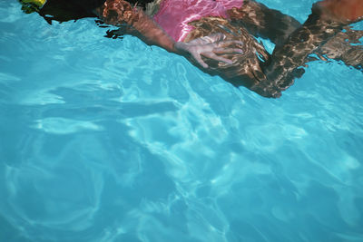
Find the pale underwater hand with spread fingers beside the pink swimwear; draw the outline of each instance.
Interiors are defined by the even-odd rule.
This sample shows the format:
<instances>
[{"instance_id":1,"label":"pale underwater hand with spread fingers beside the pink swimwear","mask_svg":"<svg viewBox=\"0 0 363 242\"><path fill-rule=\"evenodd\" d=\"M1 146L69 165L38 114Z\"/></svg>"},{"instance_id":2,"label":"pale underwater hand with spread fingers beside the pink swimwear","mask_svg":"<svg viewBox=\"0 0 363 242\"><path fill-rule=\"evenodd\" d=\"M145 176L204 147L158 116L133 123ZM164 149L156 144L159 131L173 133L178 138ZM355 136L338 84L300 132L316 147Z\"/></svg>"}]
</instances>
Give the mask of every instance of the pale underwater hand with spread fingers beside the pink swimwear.
<instances>
[{"instance_id":1,"label":"pale underwater hand with spread fingers beside the pink swimwear","mask_svg":"<svg viewBox=\"0 0 363 242\"><path fill-rule=\"evenodd\" d=\"M202 60L201 56L218 62L231 64L232 61L221 56L221 54L243 53L239 48L239 45L243 45L242 42L227 41L225 39L226 35L224 34L211 34L194 39L188 43L177 42L174 44L174 47L182 53L189 53L191 59L199 63L203 68L208 68L208 64Z\"/></svg>"}]
</instances>

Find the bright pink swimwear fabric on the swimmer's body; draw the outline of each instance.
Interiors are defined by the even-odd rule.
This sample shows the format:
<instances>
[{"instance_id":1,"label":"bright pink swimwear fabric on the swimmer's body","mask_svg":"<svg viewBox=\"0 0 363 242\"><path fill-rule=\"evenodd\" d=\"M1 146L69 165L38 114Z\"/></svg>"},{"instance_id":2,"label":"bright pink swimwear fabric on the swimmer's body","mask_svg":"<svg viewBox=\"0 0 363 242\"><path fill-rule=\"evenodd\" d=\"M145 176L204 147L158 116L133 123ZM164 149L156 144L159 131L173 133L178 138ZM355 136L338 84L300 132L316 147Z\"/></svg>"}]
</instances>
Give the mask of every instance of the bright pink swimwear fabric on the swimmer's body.
<instances>
[{"instance_id":1,"label":"bright pink swimwear fabric on the swimmer's body","mask_svg":"<svg viewBox=\"0 0 363 242\"><path fill-rule=\"evenodd\" d=\"M227 18L227 10L241 7L243 0L163 0L153 16L175 41L182 41L193 27L188 23L207 16Z\"/></svg>"}]
</instances>

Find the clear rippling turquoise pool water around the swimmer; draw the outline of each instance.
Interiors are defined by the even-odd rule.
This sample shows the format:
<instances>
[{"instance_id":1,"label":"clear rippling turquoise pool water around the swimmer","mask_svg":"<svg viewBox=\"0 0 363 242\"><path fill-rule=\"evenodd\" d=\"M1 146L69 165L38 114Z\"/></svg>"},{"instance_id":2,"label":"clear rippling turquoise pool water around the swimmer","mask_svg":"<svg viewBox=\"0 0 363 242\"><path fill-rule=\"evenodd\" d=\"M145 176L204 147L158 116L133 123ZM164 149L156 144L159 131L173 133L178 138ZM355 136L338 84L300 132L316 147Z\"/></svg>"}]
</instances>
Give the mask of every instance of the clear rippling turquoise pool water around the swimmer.
<instances>
[{"instance_id":1,"label":"clear rippling turquoise pool water around the swimmer","mask_svg":"<svg viewBox=\"0 0 363 242\"><path fill-rule=\"evenodd\" d=\"M363 241L362 72L271 100L92 19L0 30L1 242Z\"/></svg>"}]
</instances>

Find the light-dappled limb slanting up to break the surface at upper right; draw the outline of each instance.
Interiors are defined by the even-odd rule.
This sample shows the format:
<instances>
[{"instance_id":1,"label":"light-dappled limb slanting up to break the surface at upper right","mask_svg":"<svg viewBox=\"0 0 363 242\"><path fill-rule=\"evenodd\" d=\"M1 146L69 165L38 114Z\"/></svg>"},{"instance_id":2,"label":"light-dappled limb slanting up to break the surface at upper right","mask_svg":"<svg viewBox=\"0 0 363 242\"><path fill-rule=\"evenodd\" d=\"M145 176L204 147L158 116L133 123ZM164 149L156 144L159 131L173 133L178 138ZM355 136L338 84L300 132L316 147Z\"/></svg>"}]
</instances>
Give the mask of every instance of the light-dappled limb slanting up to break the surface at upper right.
<instances>
[{"instance_id":1,"label":"light-dappled limb slanting up to break the surface at upper right","mask_svg":"<svg viewBox=\"0 0 363 242\"><path fill-rule=\"evenodd\" d=\"M308 20L272 53L264 68L267 80L257 87L260 92L280 96L281 91L304 73L302 66L310 53L341 32L344 26L362 18L362 6L362 0L325 0L313 5Z\"/></svg>"}]
</instances>

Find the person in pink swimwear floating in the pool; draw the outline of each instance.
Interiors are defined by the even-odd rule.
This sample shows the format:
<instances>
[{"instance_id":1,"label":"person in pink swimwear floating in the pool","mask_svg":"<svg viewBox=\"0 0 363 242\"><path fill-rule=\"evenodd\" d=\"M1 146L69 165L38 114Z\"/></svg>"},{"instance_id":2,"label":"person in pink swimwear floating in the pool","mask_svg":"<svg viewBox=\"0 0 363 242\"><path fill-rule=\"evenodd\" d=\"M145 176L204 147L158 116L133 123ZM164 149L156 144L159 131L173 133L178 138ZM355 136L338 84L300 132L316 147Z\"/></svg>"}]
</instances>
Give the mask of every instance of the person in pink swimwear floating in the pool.
<instances>
[{"instance_id":1,"label":"person in pink swimwear floating in the pool","mask_svg":"<svg viewBox=\"0 0 363 242\"><path fill-rule=\"evenodd\" d=\"M309 54L362 68L362 31L342 30L363 17L362 0L324 0L304 24L252 0L20 0L25 12L51 23L98 17L125 34L189 57L206 73L221 75L265 97L279 97L299 78ZM152 7L150 7L152 6ZM152 11L154 10L154 11ZM254 36L276 44L269 54ZM338 46L338 49L337 49Z\"/></svg>"}]
</instances>

